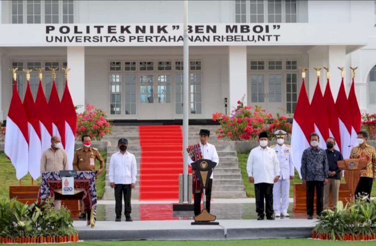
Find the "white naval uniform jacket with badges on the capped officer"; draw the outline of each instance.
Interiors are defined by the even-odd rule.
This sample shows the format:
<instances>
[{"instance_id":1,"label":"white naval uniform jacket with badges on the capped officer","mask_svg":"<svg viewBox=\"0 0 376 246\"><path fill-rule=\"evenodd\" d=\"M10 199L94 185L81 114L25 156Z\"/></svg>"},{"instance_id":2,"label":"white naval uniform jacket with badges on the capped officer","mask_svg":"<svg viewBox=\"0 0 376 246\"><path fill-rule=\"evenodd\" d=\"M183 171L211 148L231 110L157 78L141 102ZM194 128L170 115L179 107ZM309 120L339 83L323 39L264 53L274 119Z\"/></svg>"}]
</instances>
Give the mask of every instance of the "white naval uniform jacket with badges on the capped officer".
<instances>
[{"instance_id":1,"label":"white naval uniform jacket with badges on the capped officer","mask_svg":"<svg viewBox=\"0 0 376 246\"><path fill-rule=\"evenodd\" d=\"M279 167L281 173L279 179L290 179L290 176L294 176L294 158L292 156L292 147L290 145L282 144L271 146L277 153Z\"/></svg>"}]
</instances>

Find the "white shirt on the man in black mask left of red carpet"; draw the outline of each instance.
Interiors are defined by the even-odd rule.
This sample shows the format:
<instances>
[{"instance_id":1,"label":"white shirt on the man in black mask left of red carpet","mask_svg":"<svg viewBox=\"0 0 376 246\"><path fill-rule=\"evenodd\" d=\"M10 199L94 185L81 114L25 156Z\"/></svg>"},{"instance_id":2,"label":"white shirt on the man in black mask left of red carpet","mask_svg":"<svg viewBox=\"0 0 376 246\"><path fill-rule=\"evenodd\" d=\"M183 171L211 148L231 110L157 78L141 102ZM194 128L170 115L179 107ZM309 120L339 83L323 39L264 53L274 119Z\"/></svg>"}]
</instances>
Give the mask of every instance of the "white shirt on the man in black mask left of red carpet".
<instances>
[{"instance_id":1,"label":"white shirt on the man in black mask left of red carpet","mask_svg":"<svg viewBox=\"0 0 376 246\"><path fill-rule=\"evenodd\" d=\"M134 154L120 151L112 154L108 177L115 184L136 183L137 164Z\"/></svg>"}]
</instances>

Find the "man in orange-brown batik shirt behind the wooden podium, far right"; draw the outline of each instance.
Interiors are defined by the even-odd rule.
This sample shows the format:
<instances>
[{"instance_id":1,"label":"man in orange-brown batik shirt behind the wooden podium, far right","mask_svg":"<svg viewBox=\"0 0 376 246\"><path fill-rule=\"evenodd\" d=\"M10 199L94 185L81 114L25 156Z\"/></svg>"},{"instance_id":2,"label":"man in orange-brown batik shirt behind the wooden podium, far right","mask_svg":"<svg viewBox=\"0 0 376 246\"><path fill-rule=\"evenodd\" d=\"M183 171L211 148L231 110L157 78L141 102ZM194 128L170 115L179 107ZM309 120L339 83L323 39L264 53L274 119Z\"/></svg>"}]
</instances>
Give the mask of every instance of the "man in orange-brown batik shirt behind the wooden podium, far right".
<instances>
[{"instance_id":1,"label":"man in orange-brown batik shirt behind the wooden podium, far right","mask_svg":"<svg viewBox=\"0 0 376 246\"><path fill-rule=\"evenodd\" d=\"M368 132L360 130L357 135L359 145L351 149L350 158L367 160L367 167L360 173L355 196L360 193L370 198L372 183L376 180L376 151L373 146L367 144Z\"/></svg>"}]
</instances>

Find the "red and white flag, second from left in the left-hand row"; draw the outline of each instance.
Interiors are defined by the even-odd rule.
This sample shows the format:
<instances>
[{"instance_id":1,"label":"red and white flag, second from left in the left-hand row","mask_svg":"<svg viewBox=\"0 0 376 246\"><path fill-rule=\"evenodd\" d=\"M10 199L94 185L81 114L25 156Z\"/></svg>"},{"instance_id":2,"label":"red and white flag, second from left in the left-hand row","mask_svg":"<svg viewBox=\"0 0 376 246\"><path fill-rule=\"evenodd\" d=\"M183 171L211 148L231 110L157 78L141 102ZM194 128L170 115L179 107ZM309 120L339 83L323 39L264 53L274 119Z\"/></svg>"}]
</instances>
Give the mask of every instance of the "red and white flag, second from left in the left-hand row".
<instances>
[{"instance_id":1,"label":"red and white flag, second from left in the left-hand row","mask_svg":"<svg viewBox=\"0 0 376 246\"><path fill-rule=\"evenodd\" d=\"M29 129L29 172L34 179L41 175L41 129L39 124L39 113L35 107L33 94L30 89L30 81L28 79L28 86L26 88L24 98L24 109L28 117Z\"/></svg>"}]
</instances>

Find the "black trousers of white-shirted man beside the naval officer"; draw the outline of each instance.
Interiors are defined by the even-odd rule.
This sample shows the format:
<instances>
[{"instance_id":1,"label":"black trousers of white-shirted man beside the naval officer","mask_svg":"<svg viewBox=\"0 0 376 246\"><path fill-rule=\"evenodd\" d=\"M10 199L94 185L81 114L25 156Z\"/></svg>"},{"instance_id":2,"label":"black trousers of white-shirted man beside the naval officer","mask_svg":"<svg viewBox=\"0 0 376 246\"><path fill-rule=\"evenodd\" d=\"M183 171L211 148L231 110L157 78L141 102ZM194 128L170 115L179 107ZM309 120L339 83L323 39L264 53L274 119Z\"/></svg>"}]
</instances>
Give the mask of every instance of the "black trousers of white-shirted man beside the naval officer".
<instances>
[{"instance_id":1,"label":"black trousers of white-shirted man beside the naval officer","mask_svg":"<svg viewBox=\"0 0 376 246\"><path fill-rule=\"evenodd\" d=\"M264 217L264 199L266 216L273 216L273 186L273 183L255 183L256 212L258 216Z\"/></svg>"}]
</instances>

